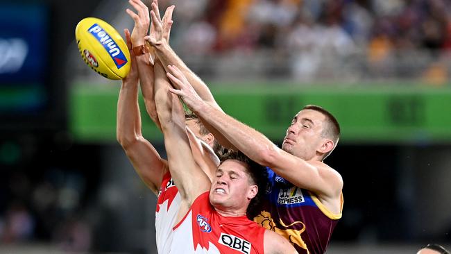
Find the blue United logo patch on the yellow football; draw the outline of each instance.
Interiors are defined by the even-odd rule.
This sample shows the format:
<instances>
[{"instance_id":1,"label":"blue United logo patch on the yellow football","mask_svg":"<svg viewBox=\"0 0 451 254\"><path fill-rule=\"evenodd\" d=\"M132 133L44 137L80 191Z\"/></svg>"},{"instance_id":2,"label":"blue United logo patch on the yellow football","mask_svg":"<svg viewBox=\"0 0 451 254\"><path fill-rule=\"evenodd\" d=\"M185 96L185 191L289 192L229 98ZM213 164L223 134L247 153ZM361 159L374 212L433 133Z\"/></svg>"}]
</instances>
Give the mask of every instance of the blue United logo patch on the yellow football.
<instances>
[{"instance_id":1,"label":"blue United logo patch on the yellow football","mask_svg":"<svg viewBox=\"0 0 451 254\"><path fill-rule=\"evenodd\" d=\"M98 24L92 25L88 30L103 45L105 50L110 54L117 69L121 69L127 63L127 58L119 49L117 43L108 35L108 33Z\"/></svg>"}]
</instances>

